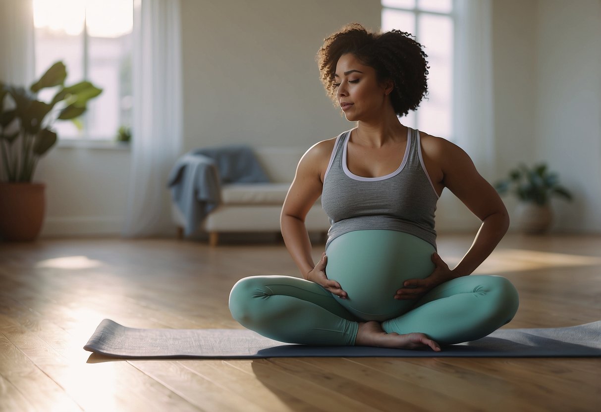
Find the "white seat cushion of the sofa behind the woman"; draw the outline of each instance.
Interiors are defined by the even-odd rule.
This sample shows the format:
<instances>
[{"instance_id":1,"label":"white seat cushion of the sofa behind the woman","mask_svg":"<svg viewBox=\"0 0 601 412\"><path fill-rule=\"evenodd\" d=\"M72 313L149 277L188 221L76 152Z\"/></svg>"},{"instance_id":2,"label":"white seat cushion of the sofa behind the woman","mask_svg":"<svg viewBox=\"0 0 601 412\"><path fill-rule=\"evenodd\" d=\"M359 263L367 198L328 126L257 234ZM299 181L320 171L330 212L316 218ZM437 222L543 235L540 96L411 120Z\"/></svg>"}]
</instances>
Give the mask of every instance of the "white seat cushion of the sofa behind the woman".
<instances>
[{"instance_id":1,"label":"white seat cushion of the sofa behind the woman","mask_svg":"<svg viewBox=\"0 0 601 412\"><path fill-rule=\"evenodd\" d=\"M227 205L282 205L290 183L224 184L221 201Z\"/></svg>"}]
</instances>

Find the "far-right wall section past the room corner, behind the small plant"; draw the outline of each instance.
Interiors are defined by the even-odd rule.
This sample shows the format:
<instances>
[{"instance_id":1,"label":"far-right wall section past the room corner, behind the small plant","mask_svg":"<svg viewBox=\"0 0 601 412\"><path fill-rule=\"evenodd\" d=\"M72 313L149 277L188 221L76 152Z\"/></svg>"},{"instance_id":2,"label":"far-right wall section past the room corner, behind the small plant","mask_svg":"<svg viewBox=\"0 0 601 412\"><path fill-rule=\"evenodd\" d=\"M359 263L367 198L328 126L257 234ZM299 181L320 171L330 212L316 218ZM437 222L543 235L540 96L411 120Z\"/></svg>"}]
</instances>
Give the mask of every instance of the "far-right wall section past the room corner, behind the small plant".
<instances>
[{"instance_id":1,"label":"far-right wall section past the room corner, behind the small plant","mask_svg":"<svg viewBox=\"0 0 601 412\"><path fill-rule=\"evenodd\" d=\"M535 153L575 195L558 231L601 232L601 1L539 1Z\"/></svg>"}]
</instances>

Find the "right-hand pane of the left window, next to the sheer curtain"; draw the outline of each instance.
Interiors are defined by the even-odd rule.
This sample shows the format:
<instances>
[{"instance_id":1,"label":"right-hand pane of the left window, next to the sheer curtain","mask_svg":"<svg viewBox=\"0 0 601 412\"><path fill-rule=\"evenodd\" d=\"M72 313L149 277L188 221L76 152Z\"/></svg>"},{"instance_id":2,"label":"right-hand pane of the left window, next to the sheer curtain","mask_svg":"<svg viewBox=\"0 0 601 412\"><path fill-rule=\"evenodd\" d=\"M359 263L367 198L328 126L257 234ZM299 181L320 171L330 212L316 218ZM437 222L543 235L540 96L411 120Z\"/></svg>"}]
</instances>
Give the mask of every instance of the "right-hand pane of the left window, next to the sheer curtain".
<instances>
[{"instance_id":1,"label":"right-hand pane of the left window, next to the sheer curtain","mask_svg":"<svg viewBox=\"0 0 601 412\"><path fill-rule=\"evenodd\" d=\"M113 139L120 126L131 126L132 1L88 0L86 23L88 78L103 89L88 103L87 132L92 139Z\"/></svg>"}]
</instances>

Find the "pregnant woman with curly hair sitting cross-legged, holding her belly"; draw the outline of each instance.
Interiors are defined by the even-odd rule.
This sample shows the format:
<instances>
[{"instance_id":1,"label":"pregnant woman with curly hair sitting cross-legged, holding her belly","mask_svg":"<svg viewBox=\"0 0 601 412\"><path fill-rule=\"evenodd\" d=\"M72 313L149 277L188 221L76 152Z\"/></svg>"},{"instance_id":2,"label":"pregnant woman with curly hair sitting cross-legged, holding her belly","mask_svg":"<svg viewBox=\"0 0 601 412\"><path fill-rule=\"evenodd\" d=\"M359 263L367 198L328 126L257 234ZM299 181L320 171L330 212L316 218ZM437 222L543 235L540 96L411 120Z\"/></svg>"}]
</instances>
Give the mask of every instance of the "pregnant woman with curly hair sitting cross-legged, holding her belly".
<instances>
[{"instance_id":1,"label":"pregnant woman with curly hair sitting cross-legged, holding her belly","mask_svg":"<svg viewBox=\"0 0 601 412\"><path fill-rule=\"evenodd\" d=\"M326 38L317 57L326 92L357 126L305 153L285 199L282 235L304 279L239 280L234 319L281 342L434 351L508 323L514 286L468 276L507 231L507 210L463 150L399 122L427 93L421 44L355 23ZM453 270L436 253L445 187L482 222ZM332 225L314 264L304 219L319 196Z\"/></svg>"}]
</instances>

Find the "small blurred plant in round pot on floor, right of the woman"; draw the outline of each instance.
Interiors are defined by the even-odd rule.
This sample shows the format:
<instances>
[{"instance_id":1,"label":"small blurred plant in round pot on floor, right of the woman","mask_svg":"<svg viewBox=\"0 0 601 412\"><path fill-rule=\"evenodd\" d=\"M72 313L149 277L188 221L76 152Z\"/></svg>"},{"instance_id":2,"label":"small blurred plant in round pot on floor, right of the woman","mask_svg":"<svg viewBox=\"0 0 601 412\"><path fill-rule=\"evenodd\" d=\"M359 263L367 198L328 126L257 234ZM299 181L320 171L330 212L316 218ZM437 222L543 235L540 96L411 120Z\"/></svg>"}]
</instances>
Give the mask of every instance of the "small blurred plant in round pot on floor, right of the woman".
<instances>
[{"instance_id":1,"label":"small blurred plant in round pot on floor, right of the woman","mask_svg":"<svg viewBox=\"0 0 601 412\"><path fill-rule=\"evenodd\" d=\"M551 226L553 214L549 201L552 196L572 201L572 194L560 186L558 174L549 172L545 163L530 169L520 165L509 172L508 178L498 181L495 189L501 195L511 192L517 196L517 223L528 234L541 234Z\"/></svg>"}]
</instances>

